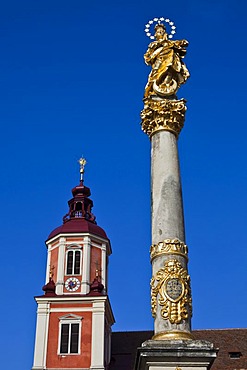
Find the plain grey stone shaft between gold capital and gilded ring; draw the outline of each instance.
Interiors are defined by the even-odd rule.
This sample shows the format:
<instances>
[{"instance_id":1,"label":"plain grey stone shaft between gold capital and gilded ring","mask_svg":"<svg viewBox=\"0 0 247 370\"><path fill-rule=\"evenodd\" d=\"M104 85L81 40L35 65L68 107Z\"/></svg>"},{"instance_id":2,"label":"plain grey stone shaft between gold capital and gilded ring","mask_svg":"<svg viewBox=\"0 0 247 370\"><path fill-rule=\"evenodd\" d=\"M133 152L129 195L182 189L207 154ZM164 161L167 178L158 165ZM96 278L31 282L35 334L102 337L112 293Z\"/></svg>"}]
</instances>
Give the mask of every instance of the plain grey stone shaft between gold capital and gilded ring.
<instances>
[{"instance_id":1,"label":"plain grey stone shaft between gold capital and gilded ring","mask_svg":"<svg viewBox=\"0 0 247 370\"><path fill-rule=\"evenodd\" d=\"M185 241L177 138L170 131L151 137L152 244Z\"/></svg>"}]
</instances>

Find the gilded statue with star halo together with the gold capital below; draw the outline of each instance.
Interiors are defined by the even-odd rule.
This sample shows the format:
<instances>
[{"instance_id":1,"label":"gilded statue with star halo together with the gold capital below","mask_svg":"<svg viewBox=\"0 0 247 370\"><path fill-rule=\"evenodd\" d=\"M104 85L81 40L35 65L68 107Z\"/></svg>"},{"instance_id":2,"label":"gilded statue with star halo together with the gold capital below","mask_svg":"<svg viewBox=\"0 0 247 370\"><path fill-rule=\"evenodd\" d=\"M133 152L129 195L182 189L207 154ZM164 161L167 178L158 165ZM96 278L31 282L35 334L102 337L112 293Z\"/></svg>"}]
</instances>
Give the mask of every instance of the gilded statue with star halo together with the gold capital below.
<instances>
[{"instance_id":1,"label":"gilded statue with star halo together with the gold capital below","mask_svg":"<svg viewBox=\"0 0 247 370\"><path fill-rule=\"evenodd\" d=\"M171 27L169 35L163 22ZM150 31L151 26L154 26L154 35ZM154 41L144 55L146 64L152 70L145 87L142 130L149 137L161 130L170 131L178 137L184 125L186 100L178 100L176 93L190 76L182 60L188 41L171 40L176 27L170 19L154 18L145 27L147 36Z\"/></svg>"}]
</instances>

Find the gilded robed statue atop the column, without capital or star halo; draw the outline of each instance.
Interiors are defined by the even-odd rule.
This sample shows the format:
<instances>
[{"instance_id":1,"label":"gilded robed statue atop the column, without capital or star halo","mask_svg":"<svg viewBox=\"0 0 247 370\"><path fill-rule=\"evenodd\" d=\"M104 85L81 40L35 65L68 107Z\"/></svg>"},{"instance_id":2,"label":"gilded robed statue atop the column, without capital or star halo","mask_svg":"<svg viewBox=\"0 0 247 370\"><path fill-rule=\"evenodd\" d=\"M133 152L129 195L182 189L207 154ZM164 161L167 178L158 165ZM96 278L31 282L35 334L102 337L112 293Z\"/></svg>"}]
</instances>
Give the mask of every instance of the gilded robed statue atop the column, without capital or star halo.
<instances>
[{"instance_id":1,"label":"gilded robed statue atop the column, without capital or star halo","mask_svg":"<svg viewBox=\"0 0 247 370\"><path fill-rule=\"evenodd\" d=\"M153 41L144 55L145 63L152 67L145 87L144 98L152 95L171 97L190 76L182 61L186 54L187 40L169 40L163 23L155 26Z\"/></svg>"}]
</instances>

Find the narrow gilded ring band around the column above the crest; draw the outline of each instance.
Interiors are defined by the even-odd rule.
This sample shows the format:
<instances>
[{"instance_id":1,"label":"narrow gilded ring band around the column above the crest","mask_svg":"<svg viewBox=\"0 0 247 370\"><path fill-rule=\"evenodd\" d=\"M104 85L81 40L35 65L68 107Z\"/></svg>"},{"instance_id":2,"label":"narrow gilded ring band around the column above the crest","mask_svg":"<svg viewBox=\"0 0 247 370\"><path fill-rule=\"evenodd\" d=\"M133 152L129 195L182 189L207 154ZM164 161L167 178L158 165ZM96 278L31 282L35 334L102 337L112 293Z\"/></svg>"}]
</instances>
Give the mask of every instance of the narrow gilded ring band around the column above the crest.
<instances>
[{"instance_id":1,"label":"narrow gilded ring band around the column above the crest","mask_svg":"<svg viewBox=\"0 0 247 370\"><path fill-rule=\"evenodd\" d=\"M165 239L158 244L151 245L151 261L162 254L178 254L188 260L188 247L179 239Z\"/></svg>"}]
</instances>

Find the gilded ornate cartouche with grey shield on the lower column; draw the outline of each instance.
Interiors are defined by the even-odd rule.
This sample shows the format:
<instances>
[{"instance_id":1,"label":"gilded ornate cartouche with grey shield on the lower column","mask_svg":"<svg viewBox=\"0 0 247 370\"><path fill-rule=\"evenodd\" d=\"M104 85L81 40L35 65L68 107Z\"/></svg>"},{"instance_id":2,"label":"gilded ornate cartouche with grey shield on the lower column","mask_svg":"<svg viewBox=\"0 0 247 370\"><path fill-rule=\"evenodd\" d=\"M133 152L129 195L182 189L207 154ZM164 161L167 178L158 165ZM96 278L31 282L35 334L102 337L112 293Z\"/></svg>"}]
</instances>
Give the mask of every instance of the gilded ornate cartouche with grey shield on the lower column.
<instances>
[{"instance_id":1,"label":"gilded ornate cartouche with grey shield on the lower column","mask_svg":"<svg viewBox=\"0 0 247 370\"><path fill-rule=\"evenodd\" d=\"M180 324L192 316L190 276L176 259L168 260L151 279L153 317L156 317L157 298L161 317L171 324Z\"/></svg>"}]
</instances>

